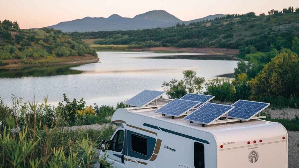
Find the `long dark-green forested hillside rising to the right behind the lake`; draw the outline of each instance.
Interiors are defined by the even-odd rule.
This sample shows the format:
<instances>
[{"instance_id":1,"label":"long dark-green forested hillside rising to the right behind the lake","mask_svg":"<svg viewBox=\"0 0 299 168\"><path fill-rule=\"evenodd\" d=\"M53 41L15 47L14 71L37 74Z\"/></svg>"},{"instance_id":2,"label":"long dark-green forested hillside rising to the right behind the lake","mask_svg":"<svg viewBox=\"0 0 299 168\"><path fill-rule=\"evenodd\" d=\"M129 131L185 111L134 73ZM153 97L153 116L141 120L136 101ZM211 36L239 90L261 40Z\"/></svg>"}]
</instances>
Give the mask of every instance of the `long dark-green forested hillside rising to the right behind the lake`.
<instances>
[{"instance_id":1,"label":"long dark-green forested hillside rising to the right behind the lake","mask_svg":"<svg viewBox=\"0 0 299 168\"><path fill-rule=\"evenodd\" d=\"M177 24L170 28L133 31L99 31L71 33L81 39L100 39L96 44L122 44L131 48L221 47L245 48L254 46L257 51L290 48L292 39L299 36L299 9L289 7L279 12L270 10L269 15L254 12L217 17L214 20Z\"/></svg>"}]
</instances>

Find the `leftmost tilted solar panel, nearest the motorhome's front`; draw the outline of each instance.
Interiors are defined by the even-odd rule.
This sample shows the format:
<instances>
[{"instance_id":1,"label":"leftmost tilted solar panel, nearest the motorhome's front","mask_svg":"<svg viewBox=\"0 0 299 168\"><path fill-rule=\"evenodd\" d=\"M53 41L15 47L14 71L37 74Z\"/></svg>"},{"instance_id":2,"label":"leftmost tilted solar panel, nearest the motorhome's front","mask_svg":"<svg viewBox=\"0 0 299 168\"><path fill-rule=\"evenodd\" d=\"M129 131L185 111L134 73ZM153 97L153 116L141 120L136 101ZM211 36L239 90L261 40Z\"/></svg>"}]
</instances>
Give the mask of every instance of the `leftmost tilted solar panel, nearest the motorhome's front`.
<instances>
[{"instance_id":1,"label":"leftmost tilted solar panel, nearest the motorhome's front","mask_svg":"<svg viewBox=\"0 0 299 168\"><path fill-rule=\"evenodd\" d=\"M138 95L127 100L124 104L130 106L144 107L155 99L161 97L164 94L162 91L156 90L144 90Z\"/></svg>"}]
</instances>

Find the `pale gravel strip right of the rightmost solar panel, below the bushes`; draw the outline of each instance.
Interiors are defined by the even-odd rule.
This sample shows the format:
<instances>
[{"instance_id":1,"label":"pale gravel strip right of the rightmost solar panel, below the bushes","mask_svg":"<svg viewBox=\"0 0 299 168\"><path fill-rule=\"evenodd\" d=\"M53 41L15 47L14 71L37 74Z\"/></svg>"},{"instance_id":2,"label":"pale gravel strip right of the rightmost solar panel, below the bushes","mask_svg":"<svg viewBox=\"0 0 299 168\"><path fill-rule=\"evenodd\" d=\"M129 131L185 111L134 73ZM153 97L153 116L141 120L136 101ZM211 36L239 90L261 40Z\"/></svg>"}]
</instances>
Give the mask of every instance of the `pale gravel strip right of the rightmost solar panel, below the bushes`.
<instances>
[{"instance_id":1,"label":"pale gravel strip right of the rightmost solar panel, below the bushes","mask_svg":"<svg viewBox=\"0 0 299 168\"><path fill-rule=\"evenodd\" d=\"M295 115L299 116L299 109L295 108L266 109L265 112L271 114L271 118L295 119Z\"/></svg>"}]
</instances>

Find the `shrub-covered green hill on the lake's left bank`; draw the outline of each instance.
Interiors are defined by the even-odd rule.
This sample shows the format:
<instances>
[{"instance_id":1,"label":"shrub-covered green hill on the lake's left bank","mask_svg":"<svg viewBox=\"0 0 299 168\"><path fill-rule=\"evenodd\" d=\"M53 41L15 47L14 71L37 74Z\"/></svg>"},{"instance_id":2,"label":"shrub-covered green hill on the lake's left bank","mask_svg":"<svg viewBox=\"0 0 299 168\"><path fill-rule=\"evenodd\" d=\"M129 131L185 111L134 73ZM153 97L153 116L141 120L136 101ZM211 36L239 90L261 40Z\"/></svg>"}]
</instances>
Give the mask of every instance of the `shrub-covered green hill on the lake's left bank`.
<instances>
[{"instance_id":1,"label":"shrub-covered green hill on the lake's left bank","mask_svg":"<svg viewBox=\"0 0 299 168\"><path fill-rule=\"evenodd\" d=\"M17 22L0 21L0 69L83 60L97 62L98 57L82 40L60 30L20 29Z\"/></svg>"}]
</instances>

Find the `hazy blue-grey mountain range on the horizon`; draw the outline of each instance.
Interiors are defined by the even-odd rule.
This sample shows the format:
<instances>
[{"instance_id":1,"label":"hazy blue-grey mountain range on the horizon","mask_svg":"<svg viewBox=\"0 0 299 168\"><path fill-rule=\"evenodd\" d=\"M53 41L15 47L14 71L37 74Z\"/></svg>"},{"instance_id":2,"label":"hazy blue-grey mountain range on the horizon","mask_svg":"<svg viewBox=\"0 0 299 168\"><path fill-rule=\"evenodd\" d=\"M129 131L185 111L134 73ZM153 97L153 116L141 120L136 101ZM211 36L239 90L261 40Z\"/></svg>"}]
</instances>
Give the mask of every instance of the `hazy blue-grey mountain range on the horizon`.
<instances>
[{"instance_id":1,"label":"hazy blue-grey mountain range on the horizon","mask_svg":"<svg viewBox=\"0 0 299 168\"><path fill-rule=\"evenodd\" d=\"M108 18L104 17L85 17L67 22L60 22L57 25L48 28L59 29L64 32L86 32L86 31L116 31L116 30L137 30L147 28L165 28L175 26L177 23L188 24L203 19L214 19L215 17L224 16L222 14L209 15L201 19L192 21L181 21L176 16L165 10L152 10L146 13L136 15L133 18L127 18L113 14Z\"/></svg>"}]
</instances>

